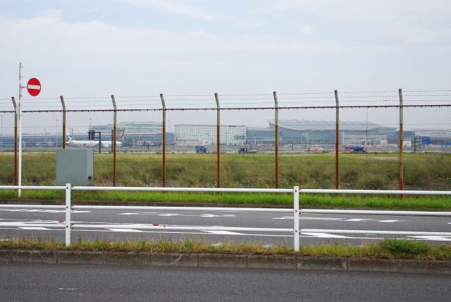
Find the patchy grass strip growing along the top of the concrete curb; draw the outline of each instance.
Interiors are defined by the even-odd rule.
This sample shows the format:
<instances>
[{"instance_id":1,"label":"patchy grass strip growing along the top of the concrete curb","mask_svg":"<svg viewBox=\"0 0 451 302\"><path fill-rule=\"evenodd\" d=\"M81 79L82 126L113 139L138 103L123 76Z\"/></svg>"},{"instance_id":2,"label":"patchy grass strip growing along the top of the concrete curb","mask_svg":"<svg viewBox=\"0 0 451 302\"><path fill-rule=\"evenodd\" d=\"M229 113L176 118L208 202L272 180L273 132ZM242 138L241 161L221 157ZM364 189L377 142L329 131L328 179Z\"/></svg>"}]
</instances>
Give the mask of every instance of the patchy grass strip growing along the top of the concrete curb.
<instances>
[{"instance_id":1,"label":"patchy grass strip growing along the top of the concrete curb","mask_svg":"<svg viewBox=\"0 0 451 302\"><path fill-rule=\"evenodd\" d=\"M0 248L33 249L33 250L87 250L116 252L151 252L151 253L227 253L255 255L304 255L314 257L346 257L346 258L383 258L383 259L423 259L451 260L450 245L431 245L424 241L408 241L406 239L385 239L377 244L364 246L330 245L301 246L295 252L288 246L265 247L262 243L224 243L213 246L207 241L73 241L66 247L53 239L24 237L0 241Z\"/></svg>"}]
</instances>

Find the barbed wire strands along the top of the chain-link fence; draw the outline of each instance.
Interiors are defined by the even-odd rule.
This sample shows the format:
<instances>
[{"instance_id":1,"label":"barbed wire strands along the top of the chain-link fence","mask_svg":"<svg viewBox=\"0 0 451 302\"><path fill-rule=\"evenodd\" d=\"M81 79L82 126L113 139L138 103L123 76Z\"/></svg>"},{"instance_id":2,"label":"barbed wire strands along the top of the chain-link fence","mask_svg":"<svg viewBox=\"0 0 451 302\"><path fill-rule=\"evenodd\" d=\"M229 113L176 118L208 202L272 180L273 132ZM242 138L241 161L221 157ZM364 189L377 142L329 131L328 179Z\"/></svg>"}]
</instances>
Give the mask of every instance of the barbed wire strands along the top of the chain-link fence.
<instances>
[{"instance_id":1,"label":"barbed wire strands along the top of the chain-link fence","mask_svg":"<svg viewBox=\"0 0 451 302\"><path fill-rule=\"evenodd\" d=\"M451 102L451 90L403 90L404 107L419 102L442 104ZM277 92L279 109L330 108L335 105L335 94L328 92ZM163 97L167 110L213 110L216 109L214 93L168 94ZM272 93L218 93L221 109L273 109ZM343 107L394 106L399 102L398 90L340 91L338 99ZM58 111L59 97L23 98L24 111ZM66 109L72 111L112 110L111 96L64 97ZM95 102L93 102L95 100ZM44 101L44 102L42 102ZM16 99L17 102L17 99ZM390 102L393 102L390 103ZM354 105L359 103L359 105ZM118 110L150 111L161 109L160 95L121 95L116 97ZM296 104L299 106L292 106ZM317 104L330 104L318 106ZM426 104L425 104L426 105ZM10 111L11 98L0 98L0 109ZM83 107L83 109L79 109ZM335 107L335 106L334 106Z\"/></svg>"}]
</instances>

